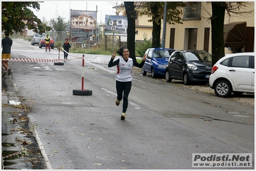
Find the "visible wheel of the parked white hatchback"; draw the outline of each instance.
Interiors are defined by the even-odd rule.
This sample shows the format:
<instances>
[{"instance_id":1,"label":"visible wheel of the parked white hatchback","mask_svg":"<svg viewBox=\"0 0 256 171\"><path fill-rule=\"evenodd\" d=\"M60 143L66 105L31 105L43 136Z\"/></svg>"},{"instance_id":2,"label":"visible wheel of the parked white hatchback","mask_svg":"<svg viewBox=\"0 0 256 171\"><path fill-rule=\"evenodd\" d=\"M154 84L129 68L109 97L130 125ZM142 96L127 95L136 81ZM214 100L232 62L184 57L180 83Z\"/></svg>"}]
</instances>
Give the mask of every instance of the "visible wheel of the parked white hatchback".
<instances>
[{"instance_id":1,"label":"visible wheel of the parked white hatchback","mask_svg":"<svg viewBox=\"0 0 256 171\"><path fill-rule=\"evenodd\" d=\"M220 80L214 86L214 92L219 97L228 97L232 93L232 87L226 80Z\"/></svg>"}]
</instances>

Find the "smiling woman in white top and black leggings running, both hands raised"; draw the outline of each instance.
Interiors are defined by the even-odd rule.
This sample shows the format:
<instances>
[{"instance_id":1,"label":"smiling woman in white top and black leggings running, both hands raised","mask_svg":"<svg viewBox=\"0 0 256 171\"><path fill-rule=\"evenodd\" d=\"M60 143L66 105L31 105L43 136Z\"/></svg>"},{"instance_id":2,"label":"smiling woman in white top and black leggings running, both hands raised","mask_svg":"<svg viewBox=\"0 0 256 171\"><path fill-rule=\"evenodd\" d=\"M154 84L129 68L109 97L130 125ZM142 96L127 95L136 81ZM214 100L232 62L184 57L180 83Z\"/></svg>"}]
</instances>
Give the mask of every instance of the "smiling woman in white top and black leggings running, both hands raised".
<instances>
[{"instance_id":1,"label":"smiling woman in white top and black leggings running, both hands raised","mask_svg":"<svg viewBox=\"0 0 256 171\"><path fill-rule=\"evenodd\" d=\"M137 63L133 58L129 58L130 53L127 47L122 47L117 51L117 53L121 56L121 58L115 59L116 52L112 54L112 57L108 63L108 67L114 67L117 65L117 75L115 76L115 88L117 91L117 100L115 104L119 106L120 101L123 99L123 113L121 115L121 120L126 118L126 110L128 108L128 95L130 94L130 90L132 88L132 66L142 68L146 61L146 54L144 54L142 62Z\"/></svg>"}]
</instances>

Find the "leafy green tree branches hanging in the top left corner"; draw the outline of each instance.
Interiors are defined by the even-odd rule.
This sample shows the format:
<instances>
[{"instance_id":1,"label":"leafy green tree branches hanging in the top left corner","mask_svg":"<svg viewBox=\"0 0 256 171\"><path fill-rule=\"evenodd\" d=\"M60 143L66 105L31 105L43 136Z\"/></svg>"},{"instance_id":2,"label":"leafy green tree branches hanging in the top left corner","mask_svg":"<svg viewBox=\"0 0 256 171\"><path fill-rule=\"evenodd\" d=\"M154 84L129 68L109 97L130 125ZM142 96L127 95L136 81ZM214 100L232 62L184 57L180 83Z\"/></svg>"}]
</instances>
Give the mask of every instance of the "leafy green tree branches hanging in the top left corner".
<instances>
[{"instance_id":1,"label":"leafy green tree branches hanging in the top left corner","mask_svg":"<svg viewBox=\"0 0 256 171\"><path fill-rule=\"evenodd\" d=\"M22 32L27 25L28 29L33 29L36 33L44 33L51 28L46 26L37 16L29 9L40 10L38 2L1 2L2 4L2 30L4 33L13 35L13 31Z\"/></svg>"}]
</instances>

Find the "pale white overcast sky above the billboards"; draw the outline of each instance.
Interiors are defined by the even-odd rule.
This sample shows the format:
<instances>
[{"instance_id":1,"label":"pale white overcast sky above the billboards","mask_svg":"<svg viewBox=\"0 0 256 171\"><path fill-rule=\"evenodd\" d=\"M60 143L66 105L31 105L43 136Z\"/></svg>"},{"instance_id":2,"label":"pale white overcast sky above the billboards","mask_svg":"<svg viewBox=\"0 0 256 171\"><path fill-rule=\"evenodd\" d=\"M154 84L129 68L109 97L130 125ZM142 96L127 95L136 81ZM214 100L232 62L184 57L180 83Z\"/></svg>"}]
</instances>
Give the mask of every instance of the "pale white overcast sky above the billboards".
<instances>
[{"instance_id":1,"label":"pale white overcast sky above the billboards","mask_svg":"<svg viewBox=\"0 0 256 171\"><path fill-rule=\"evenodd\" d=\"M56 13L58 13L58 16L63 17L67 22L69 20L70 9L96 11L96 6L98 6L97 20L100 23L100 21L105 21L105 15L115 15L115 9L113 7L121 3L123 1L44 1L44 3L40 3L39 12L33 10L33 13L39 19L42 20L44 17L47 21L56 19Z\"/></svg>"}]
</instances>

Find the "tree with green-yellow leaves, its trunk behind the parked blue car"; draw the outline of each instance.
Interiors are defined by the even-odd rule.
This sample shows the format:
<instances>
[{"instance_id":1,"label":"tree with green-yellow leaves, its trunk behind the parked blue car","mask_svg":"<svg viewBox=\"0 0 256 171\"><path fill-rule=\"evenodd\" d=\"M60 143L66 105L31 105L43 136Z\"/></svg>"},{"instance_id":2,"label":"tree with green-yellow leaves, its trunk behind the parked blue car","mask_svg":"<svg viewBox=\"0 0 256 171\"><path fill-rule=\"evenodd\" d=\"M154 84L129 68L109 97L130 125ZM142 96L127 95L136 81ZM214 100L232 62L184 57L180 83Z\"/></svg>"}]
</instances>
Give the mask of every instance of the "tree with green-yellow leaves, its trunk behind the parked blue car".
<instances>
[{"instance_id":1,"label":"tree with green-yellow leaves, its trunk behind the parked blue car","mask_svg":"<svg viewBox=\"0 0 256 171\"><path fill-rule=\"evenodd\" d=\"M164 2L141 2L141 9L138 10L140 15L148 15L151 19L148 22L153 23L152 30L152 47L160 47L161 21L164 19ZM185 6L183 2L167 2L166 21L167 24L182 24L180 14L182 10L178 7Z\"/></svg>"}]
</instances>

